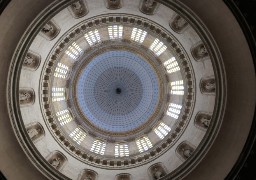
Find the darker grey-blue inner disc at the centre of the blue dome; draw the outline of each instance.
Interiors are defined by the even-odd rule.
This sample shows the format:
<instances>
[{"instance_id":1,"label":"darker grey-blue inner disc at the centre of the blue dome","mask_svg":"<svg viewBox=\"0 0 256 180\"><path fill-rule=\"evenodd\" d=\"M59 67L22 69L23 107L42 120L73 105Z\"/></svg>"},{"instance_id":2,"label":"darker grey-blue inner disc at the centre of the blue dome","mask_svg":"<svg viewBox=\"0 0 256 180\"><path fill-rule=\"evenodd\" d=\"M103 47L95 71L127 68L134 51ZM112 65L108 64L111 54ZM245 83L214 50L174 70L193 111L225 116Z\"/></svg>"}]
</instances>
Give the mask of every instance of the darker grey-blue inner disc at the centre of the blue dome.
<instances>
[{"instance_id":1,"label":"darker grey-blue inner disc at the centre of the blue dome","mask_svg":"<svg viewBox=\"0 0 256 180\"><path fill-rule=\"evenodd\" d=\"M98 106L112 115L126 115L138 107L143 94L140 78L124 67L103 72L95 83L94 97Z\"/></svg>"}]
</instances>

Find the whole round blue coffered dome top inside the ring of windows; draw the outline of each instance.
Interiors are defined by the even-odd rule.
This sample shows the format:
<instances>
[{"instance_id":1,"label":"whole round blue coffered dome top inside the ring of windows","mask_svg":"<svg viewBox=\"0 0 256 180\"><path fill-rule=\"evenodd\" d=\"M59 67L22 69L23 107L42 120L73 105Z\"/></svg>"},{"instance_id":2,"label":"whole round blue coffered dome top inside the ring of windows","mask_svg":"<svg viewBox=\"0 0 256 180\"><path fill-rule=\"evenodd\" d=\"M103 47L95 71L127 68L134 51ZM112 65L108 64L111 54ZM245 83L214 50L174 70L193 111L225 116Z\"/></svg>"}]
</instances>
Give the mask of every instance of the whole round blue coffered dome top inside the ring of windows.
<instances>
[{"instance_id":1,"label":"whole round blue coffered dome top inside the ring of windows","mask_svg":"<svg viewBox=\"0 0 256 180\"><path fill-rule=\"evenodd\" d=\"M93 125L126 132L152 116L159 101L159 81L142 57L124 50L107 51L81 70L76 96L80 111Z\"/></svg>"}]
</instances>

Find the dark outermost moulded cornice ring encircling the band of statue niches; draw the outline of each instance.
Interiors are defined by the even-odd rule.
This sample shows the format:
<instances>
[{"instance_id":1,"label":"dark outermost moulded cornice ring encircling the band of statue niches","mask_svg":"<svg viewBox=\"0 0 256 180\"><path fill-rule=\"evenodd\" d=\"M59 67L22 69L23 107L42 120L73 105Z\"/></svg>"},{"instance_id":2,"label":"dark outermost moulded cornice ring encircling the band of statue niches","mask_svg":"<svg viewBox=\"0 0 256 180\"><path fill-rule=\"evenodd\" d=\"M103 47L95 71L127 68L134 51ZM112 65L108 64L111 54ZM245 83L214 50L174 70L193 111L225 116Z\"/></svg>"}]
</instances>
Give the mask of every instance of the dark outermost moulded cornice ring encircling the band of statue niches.
<instances>
[{"instance_id":1,"label":"dark outermost moulded cornice ring encircling the band of statue niches","mask_svg":"<svg viewBox=\"0 0 256 180\"><path fill-rule=\"evenodd\" d=\"M73 2L73 1L72 1ZM52 9L61 10L64 6L69 5L72 2L58 2L56 4L52 4ZM169 2L162 2L168 7L171 7L174 10L177 10L175 7L183 7L183 5L179 4L177 5L176 3ZM173 4L172 4L173 3ZM56 6L55 6L56 5ZM60 7L58 7L60 5ZM183 7L185 9L185 7ZM49 9L48 9L48 12ZM54 11L54 12L58 12ZM185 176L189 171L191 171L192 167L197 164L201 158L203 158L204 154L207 152L207 150L210 148L210 145L214 141L214 138L217 135L217 132L219 130L219 127L221 125L221 119L222 119L222 113L224 111L225 107L225 73L223 70L223 64L221 64L221 56L220 53L218 52L218 48L215 45L214 40L211 38L210 34L206 29L203 28L202 24L198 24L199 22L198 19L194 21L194 14L190 11L188 11L190 14L186 14L185 12L177 12L184 16L186 20L192 24L195 25L194 28L197 30L197 32L200 34L200 37L204 40L204 43L207 46L207 50L210 54L213 67L214 67L214 75L216 79L216 105L215 105L215 110L213 113L213 118L215 121L213 121L203 139L201 144L197 147L196 151L193 153L193 155L186 160L183 165L181 165L177 170L175 170L173 173L170 173L167 177L172 177L172 178L178 178ZM46 11L43 12L43 14L48 14ZM193 17L192 17L193 15ZM52 14L53 16L53 14ZM43 17L43 16L42 16ZM46 18L46 20L49 20L50 17ZM193 21L191 21L193 19ZM17 139L19 139L19 142L21 143L24 151L28 156L32 156L30 158L36 166L48 177L55 178L55 177L62 177L62 179L65 179L63 175L57 171L52 170L51 168L48 167L46 161L44 158L41 157L40 154L35 150L35 147L31 140L28 138L28 135L26 134L25 126L22 124L20 119L22 119L20 110L19 110L19 100L18 100L18 87L19 87L19 73L21 71L21 63L20 59L24 59L25 54L28 50L28 46L31 43L32 39L35 37L35 35L39 32L40 28L42 27L43 24L45 24L46 21L42 21L37 19L34 21L34 24L30 26L32 30L29 28L28 31L24 35L24 39L20 41L20 44L17 48L17 53L13 57L12 60L12 66L10 67L10 73L9 73L9 84L8 84L8 104L9 107L9 114L12 119L12 125L15 131L15 134L17 136ZM207 37L207 38L203 38ZM186 56L185 56L186 57ZM184 58L185 58L184 57ZM186 64L186 63L184 63ZM188 103L189 104L189 103ZM182 123L181 123L182 124ZM184 124L182 124L183 126ZM204 147L203 147L204 146ZM190 164L190 165L188 165Z\"/></svg>"}]
</instances>

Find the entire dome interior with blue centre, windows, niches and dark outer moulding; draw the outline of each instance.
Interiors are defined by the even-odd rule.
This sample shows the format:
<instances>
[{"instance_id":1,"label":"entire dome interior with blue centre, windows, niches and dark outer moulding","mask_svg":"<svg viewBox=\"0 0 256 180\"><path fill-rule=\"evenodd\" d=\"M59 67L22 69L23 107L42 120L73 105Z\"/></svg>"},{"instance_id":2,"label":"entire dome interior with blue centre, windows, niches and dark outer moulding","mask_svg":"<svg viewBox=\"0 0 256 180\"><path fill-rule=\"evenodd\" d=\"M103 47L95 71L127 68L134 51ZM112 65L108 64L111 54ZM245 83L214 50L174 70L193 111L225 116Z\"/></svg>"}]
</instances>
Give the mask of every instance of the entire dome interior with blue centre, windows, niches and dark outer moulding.
<instances>
[{"instance_id":1,"label":"entire dome interior with blue centre, windows, niches and dark outer moulding","mask_svg":"<svg viewBox=\"0 0 256 180\"><path fill-rule=\"evenodd\" d=\"M9 107L49 178L42 162L70 179L178 178L200 162L222 121L225 74L207 29L179 8L63 1L31 24Z\"/></svg>"}]
</instances>

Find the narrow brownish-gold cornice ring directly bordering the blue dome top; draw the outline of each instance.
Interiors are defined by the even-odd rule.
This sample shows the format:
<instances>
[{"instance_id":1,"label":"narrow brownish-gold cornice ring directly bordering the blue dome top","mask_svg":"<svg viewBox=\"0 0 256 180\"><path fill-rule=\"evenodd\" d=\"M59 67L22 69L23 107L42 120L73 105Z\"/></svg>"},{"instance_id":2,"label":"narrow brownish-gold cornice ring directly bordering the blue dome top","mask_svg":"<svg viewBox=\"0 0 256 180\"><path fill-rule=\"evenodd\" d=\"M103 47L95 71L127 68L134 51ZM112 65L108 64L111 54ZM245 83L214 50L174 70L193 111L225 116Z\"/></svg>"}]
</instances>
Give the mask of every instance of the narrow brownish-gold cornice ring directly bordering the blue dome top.
<instances>
[{"instance_id":1,"label":"narrow brownish-gold cornice ring directly bordering the blue dome top","mask_svg":"<svg viewBox=\"0 0 256 180\"><path fill-rule=\"evenodd\" d=\"M96 51L93 50L93 52L91 53L90 50L89 51L86 51L85 53L87 54L86 56L86 61L84 62L84 64L76 64L75 67L74 67L74 71L75 72L80 72L81 71L81 68L83 68L84 66L87 66L87 64L90 62L90 59L94 58L95 56L99 55L99 54L102 54L103 52L109 52L111 51L111 49L115 49L115 50L118 50L118 51L127 51L127 52L131 52L131 53L134 53L136 54L136 56L138 55L138 57L141 57L143 59L149 59L150 58L150 61L147 60L148 63L150 63L150 66L154 69L155 73L157 74L158 76L158 80L159 82L157 83L160 88L159 88L159 91L161 91L161 93L159 93L159 102L165 102L167 97L164 96L164 94L166 93L166 79L165 79L165 76L164 76L164 69L159 67L159 62L157 62L156 60L154 60L155 57L153 56L148 56L148 55L145 55L142 53L142 51L138 51L138 48L136 47L135 44L133 44L133 47L131 45L129 45L130 43L126 43L126 42L103 42L103 44L97 46L97 49ZM135 48L136 47L136 48ZM141 47L140 47L141 48ZM95 51L95 52L94 52ZM154 62L155 61L155 62ZM80 69L77 69L79 68ZM162 72L161 72L162 71ZM73 81L73 82L76 82L76 77L79 76L79 73L78 74L74 74L72 77L74 77L74 79L71 77L71 80L70 81ZM75 88L75 83L72 84L72 87ZM72 97L75 97L75 92L76 90L73 88L73 90L71 91L72 93ZM77 104L77 100L75 100L75 102L72 103L73 100L70 100L70 104L74 104L74 106L78 106ZM164 106L163 106L163 103L159 104L158 102L158 107L156 110L154 110L155 112L153 113L153 115L151 115L152 118L149 118L149 119L152 119L151 121L153 120L156 120L156 118L159 118L160 113L163 113L163 110L164 110ZM81 114L81 111L79 111L80 114ZM76 113L77 114L77 113ZM81 119L81 118L79 118ZM83 119L83 118L82 118ZM92 131L95 131L95 128L97 129L96 126L94 126L93 124L91 124L87 119L85 119L85 121L87 122L86 124L90 124L91 125L91 129ZM148 120L146 123L143 123L141 126L141 128L135 128L131 131L125 131L125 132L119 132L119 133L115 133L115 132L103 132L102 130L99 129L99 131L101 131L103 134L106 134L106 136L104 136L104 138L107 138L107 137L114 137L114 136L122 136L123 138L125 137L128 137L126 139L131 139L131 138L135 138L135 135L140 133L140 134L143 134L143 132L141 132L141 129L142 128L145 128L145 126L148 126L149 124L152 124L150 123ZM86 125L85 125L86 126ZM110 136L111 135L111 136ZM129 135L129 136L128 136ZM133 136L133 137L131 137Z\"/></svg>"}]
</instances>

